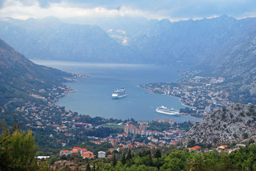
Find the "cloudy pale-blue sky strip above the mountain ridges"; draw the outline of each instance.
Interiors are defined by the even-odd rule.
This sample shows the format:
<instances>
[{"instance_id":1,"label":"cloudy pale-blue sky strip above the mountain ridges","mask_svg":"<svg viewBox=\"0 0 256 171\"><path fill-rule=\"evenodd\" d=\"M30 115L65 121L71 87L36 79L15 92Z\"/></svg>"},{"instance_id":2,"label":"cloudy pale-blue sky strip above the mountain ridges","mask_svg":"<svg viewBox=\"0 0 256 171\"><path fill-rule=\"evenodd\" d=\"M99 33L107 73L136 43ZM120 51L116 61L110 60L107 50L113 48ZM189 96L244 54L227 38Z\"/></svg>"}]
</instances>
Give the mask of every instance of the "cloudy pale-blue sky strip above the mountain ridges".
<instances>
[{"instance_id":1,"label":"cloudy pale-blue sky strip above the mountain ridges","mask_svg":"<svg viewBox=\"0 0 256 171\"><path fill-rule=\"evenodd\" d=\"M256 0L0 0L0 17L42 19L145 17L171 21L256 17Z\"/></svg>"}]
</instances>

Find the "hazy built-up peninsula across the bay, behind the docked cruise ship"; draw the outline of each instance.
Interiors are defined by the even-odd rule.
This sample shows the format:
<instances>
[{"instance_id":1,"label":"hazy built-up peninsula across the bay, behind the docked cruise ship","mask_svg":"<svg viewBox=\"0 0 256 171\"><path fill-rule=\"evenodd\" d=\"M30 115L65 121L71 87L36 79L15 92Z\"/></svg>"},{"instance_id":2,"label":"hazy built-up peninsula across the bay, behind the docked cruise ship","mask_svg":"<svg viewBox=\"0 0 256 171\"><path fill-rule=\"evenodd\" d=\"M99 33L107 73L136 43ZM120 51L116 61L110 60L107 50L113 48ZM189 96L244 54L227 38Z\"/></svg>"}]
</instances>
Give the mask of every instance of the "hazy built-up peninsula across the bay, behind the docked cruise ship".
<instances>
[{"instance_id":1,"label":"hazy built-up peninsula across the bay, behind the docked cruise ship","mask_svg":"<svg viewBox=\"0 0 256 171\"><path fill-rule=\"evenodd\" d=\"M148 89L148 93L160 93L180 98L183 105L192 107L199 114L219 110L232 102L228 100L230 94L221 91L223 77L192 77L186 75L179 80L179 84L154 83L141 87Z\"/></svg>"}]
</instances>

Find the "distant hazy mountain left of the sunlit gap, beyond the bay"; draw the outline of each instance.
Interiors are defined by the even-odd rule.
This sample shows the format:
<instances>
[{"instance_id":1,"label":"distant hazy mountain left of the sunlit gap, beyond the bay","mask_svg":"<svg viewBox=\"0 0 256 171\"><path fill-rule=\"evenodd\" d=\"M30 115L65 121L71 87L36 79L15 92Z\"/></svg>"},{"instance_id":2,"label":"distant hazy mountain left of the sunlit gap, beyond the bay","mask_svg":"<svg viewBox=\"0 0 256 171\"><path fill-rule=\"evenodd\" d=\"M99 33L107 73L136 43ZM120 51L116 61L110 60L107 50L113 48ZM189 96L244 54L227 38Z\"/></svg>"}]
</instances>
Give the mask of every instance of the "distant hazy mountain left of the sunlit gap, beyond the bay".
<instances>
[{"instance_id":1,"label":"distant hazy mountain left of the sunlit gap, beyond the bay","mask_svg":"<svg viewBox=\"0 0 256 171\"><path fill-rule=\"evenodd\" d=\"M5 19L0 38L33 59L131 63L136 56L99 26L65 24L48 17L43 20ZM136 59L136 61L138 61Z\"/></svg>"}]
</instances>

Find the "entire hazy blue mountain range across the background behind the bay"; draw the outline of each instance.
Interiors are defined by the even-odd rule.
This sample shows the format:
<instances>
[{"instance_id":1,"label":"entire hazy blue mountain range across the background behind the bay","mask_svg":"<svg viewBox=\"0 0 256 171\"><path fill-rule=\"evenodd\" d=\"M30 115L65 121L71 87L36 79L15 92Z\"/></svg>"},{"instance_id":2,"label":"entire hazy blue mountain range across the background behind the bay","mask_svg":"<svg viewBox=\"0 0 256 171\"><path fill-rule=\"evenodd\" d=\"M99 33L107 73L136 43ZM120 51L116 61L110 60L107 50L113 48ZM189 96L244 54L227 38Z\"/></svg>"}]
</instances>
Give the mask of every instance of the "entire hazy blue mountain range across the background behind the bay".
<instances>
[{"instance_id":1,"label":"entire hazy blue mountain range across the background behind the bay","mask_svg":"<svg viewBox=\"0 0 256 171\"><path fill-rule=\"evenodd\" d=\"M231 79L255 75L255 18L170 22L124 17L99 25L6 18L0 21L0 38L31 59L172 64L207 68Z\"/></svg>"}]
</instances>

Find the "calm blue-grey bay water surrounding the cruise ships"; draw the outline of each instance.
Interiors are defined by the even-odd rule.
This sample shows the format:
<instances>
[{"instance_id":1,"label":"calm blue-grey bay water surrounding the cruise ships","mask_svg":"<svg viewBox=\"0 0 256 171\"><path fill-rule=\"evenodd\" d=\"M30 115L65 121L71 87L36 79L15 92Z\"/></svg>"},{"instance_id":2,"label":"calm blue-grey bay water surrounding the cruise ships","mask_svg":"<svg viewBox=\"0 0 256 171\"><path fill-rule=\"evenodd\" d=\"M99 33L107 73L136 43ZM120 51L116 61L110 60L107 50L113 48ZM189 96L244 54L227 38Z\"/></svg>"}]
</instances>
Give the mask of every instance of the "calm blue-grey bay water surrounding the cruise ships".
<instances>
[{"instance_id":1,"label":"calm blue-grey bay water surrounding the cruise ships","mask_svg":"<svg viewBox=\"0 0 256 171\"><path fill-rule=\"evenodd\" d=\"M177 98L159 94L147 94L140 84L150 82L174 82L179 79L179 68L151 64L100 64L75 63L66 61L35 61L38 64L51 66L71 73L90 75L92 78L68 82L76 93L67 94L56 105L65 106L68 110L92 117L118 119L134 118L147 120L163 118L184 122L188 117L177 117L155 112L164 105L168 108L184 108ZM128 96L118 100L111 99L111 93L117 88L125 87ZM196 120L198 121L198 120Z\"/></svg>"}]
</instances>

